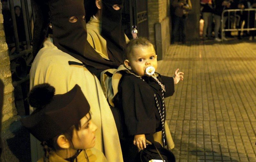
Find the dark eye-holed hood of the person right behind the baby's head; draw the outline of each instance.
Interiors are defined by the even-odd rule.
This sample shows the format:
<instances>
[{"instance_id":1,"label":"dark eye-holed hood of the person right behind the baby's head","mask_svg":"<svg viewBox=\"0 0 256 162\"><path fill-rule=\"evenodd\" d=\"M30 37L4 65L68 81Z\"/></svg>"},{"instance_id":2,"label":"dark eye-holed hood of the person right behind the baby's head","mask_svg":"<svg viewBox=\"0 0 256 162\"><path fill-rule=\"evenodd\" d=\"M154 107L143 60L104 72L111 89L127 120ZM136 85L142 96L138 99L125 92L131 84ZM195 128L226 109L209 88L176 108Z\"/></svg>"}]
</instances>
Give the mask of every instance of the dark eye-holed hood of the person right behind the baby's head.
<instances>
[{"instance_id":1,"label":"dark eye-holed hood of the person right behind the baby's head","mask_svg":"<svg viewBox=\"0 0 256 162\"><path fill-rule=\"evenodd\" d=\"M118 4L120 10L114 10ZM108 57L117 64L124 63L124 47L126 45L122 27L123 0L102 0L101 35L107 41Z\"/></svg>"}]
</instances>

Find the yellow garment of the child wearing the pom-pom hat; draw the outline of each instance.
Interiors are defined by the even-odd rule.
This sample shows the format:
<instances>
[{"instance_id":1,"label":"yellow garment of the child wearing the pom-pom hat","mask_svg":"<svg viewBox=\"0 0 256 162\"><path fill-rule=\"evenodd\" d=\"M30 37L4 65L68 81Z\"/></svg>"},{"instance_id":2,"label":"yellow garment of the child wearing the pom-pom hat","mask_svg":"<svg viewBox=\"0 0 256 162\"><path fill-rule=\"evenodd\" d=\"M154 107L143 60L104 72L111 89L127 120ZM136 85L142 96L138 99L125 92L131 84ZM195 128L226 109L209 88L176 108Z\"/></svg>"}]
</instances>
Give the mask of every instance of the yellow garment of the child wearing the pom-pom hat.
<instances>
[{"instance_id":1,"label":"yellow garment of the child wearing the pom-pom hat","mask_svg":"<svg viewBox=\"0 0 256 162\"><path fill-rule=\"evenodd\" d=\"M86 159L86 154L88 156L89 161ZM80 152L80 154L77 156L77 161L74 162L107 162L106 157L102 152L99 150L92 148L87 149L85 154L85 150ZM50 152L49 156L50 162L68 162L67 160L61 158L59 155L57 155L54 151ZM40 158L37 162L44 162L44 158Z\"/></svg>"}]
</instances>

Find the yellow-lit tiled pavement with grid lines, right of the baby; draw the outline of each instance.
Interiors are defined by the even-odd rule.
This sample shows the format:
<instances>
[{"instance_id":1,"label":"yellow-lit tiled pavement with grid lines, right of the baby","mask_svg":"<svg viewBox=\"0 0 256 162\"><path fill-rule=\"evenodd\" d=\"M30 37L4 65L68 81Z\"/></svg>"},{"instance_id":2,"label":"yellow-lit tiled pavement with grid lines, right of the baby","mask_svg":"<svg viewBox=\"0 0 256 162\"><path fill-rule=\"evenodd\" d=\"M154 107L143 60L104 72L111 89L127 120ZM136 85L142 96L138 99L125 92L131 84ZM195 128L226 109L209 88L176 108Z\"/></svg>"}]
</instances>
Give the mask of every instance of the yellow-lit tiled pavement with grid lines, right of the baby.
<instances>
[{"instance_id":1,"label":"yellow-lit tiled pavement with grid lines, right of the baby","mask_svg":"<svg viewBox=\"0 0 256 162\"><path fill-rule=\"evenodd\" d=\"M171 45L158 72L184 81L166 98L176 160L256 162L256 43Z\"/></svg>"}]
</instances>

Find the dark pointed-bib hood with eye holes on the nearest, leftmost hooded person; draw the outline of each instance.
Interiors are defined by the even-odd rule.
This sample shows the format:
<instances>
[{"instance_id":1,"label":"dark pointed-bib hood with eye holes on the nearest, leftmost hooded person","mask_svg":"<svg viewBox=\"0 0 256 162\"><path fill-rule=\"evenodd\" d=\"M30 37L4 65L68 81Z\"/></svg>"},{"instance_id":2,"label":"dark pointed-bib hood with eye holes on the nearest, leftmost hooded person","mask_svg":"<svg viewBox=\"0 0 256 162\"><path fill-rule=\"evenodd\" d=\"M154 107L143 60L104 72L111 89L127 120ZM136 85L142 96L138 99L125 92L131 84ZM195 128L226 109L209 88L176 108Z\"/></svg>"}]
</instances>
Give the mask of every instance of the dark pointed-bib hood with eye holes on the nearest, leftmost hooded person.
<instances>
[{"instance_id":1,"label":"dark pointed-bib hood with eye holes on the nearest, leftmost hooded person","mask_svg":"<svg viewBox=\"0 0 256 162\"><path fill-rule=\"evenodd\" d=\"M33 38L33 46L36 49L33 52L37 53L41 48L49 20L51 20L53 44L61 51L83 62L92 73L96 73L95 69L100 72L119 66L115 62L103 59L87 41L86 24L83 19L85 16L84 0L49 0L48 4L41 0L32 0L32 3L36 12ZM44 11L45 9L49 12ZM71 17L76 17L77 21L69 22ZM44 32L41 32L42 29Z\"/></svg>"}]
</instances>

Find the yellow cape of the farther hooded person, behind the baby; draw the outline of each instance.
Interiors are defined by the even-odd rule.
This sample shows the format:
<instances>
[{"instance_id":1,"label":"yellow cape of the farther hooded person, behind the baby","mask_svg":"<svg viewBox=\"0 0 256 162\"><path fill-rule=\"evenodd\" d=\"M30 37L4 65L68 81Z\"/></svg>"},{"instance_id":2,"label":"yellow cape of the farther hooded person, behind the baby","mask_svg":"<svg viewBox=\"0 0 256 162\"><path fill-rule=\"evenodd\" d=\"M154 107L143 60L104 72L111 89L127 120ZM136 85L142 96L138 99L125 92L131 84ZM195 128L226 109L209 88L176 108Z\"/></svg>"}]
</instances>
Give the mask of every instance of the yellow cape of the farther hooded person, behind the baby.
<instances>
[{"instance_id":1,"label":"yellow cape of the farther hooded person, behind the baby","mask_svg":"<svg viewBox=\"0 0 256 162\"><path fill-rule=\"evenodd\" d=\"M90 45L100 54L104 59L108 59L107 42L100 35L100 20L91 18L86 24L87 40ZM128 42L128 37L124 34L125 41ZM109 60L109 59L108 59Z\"/></svg>"}]
</instances>

